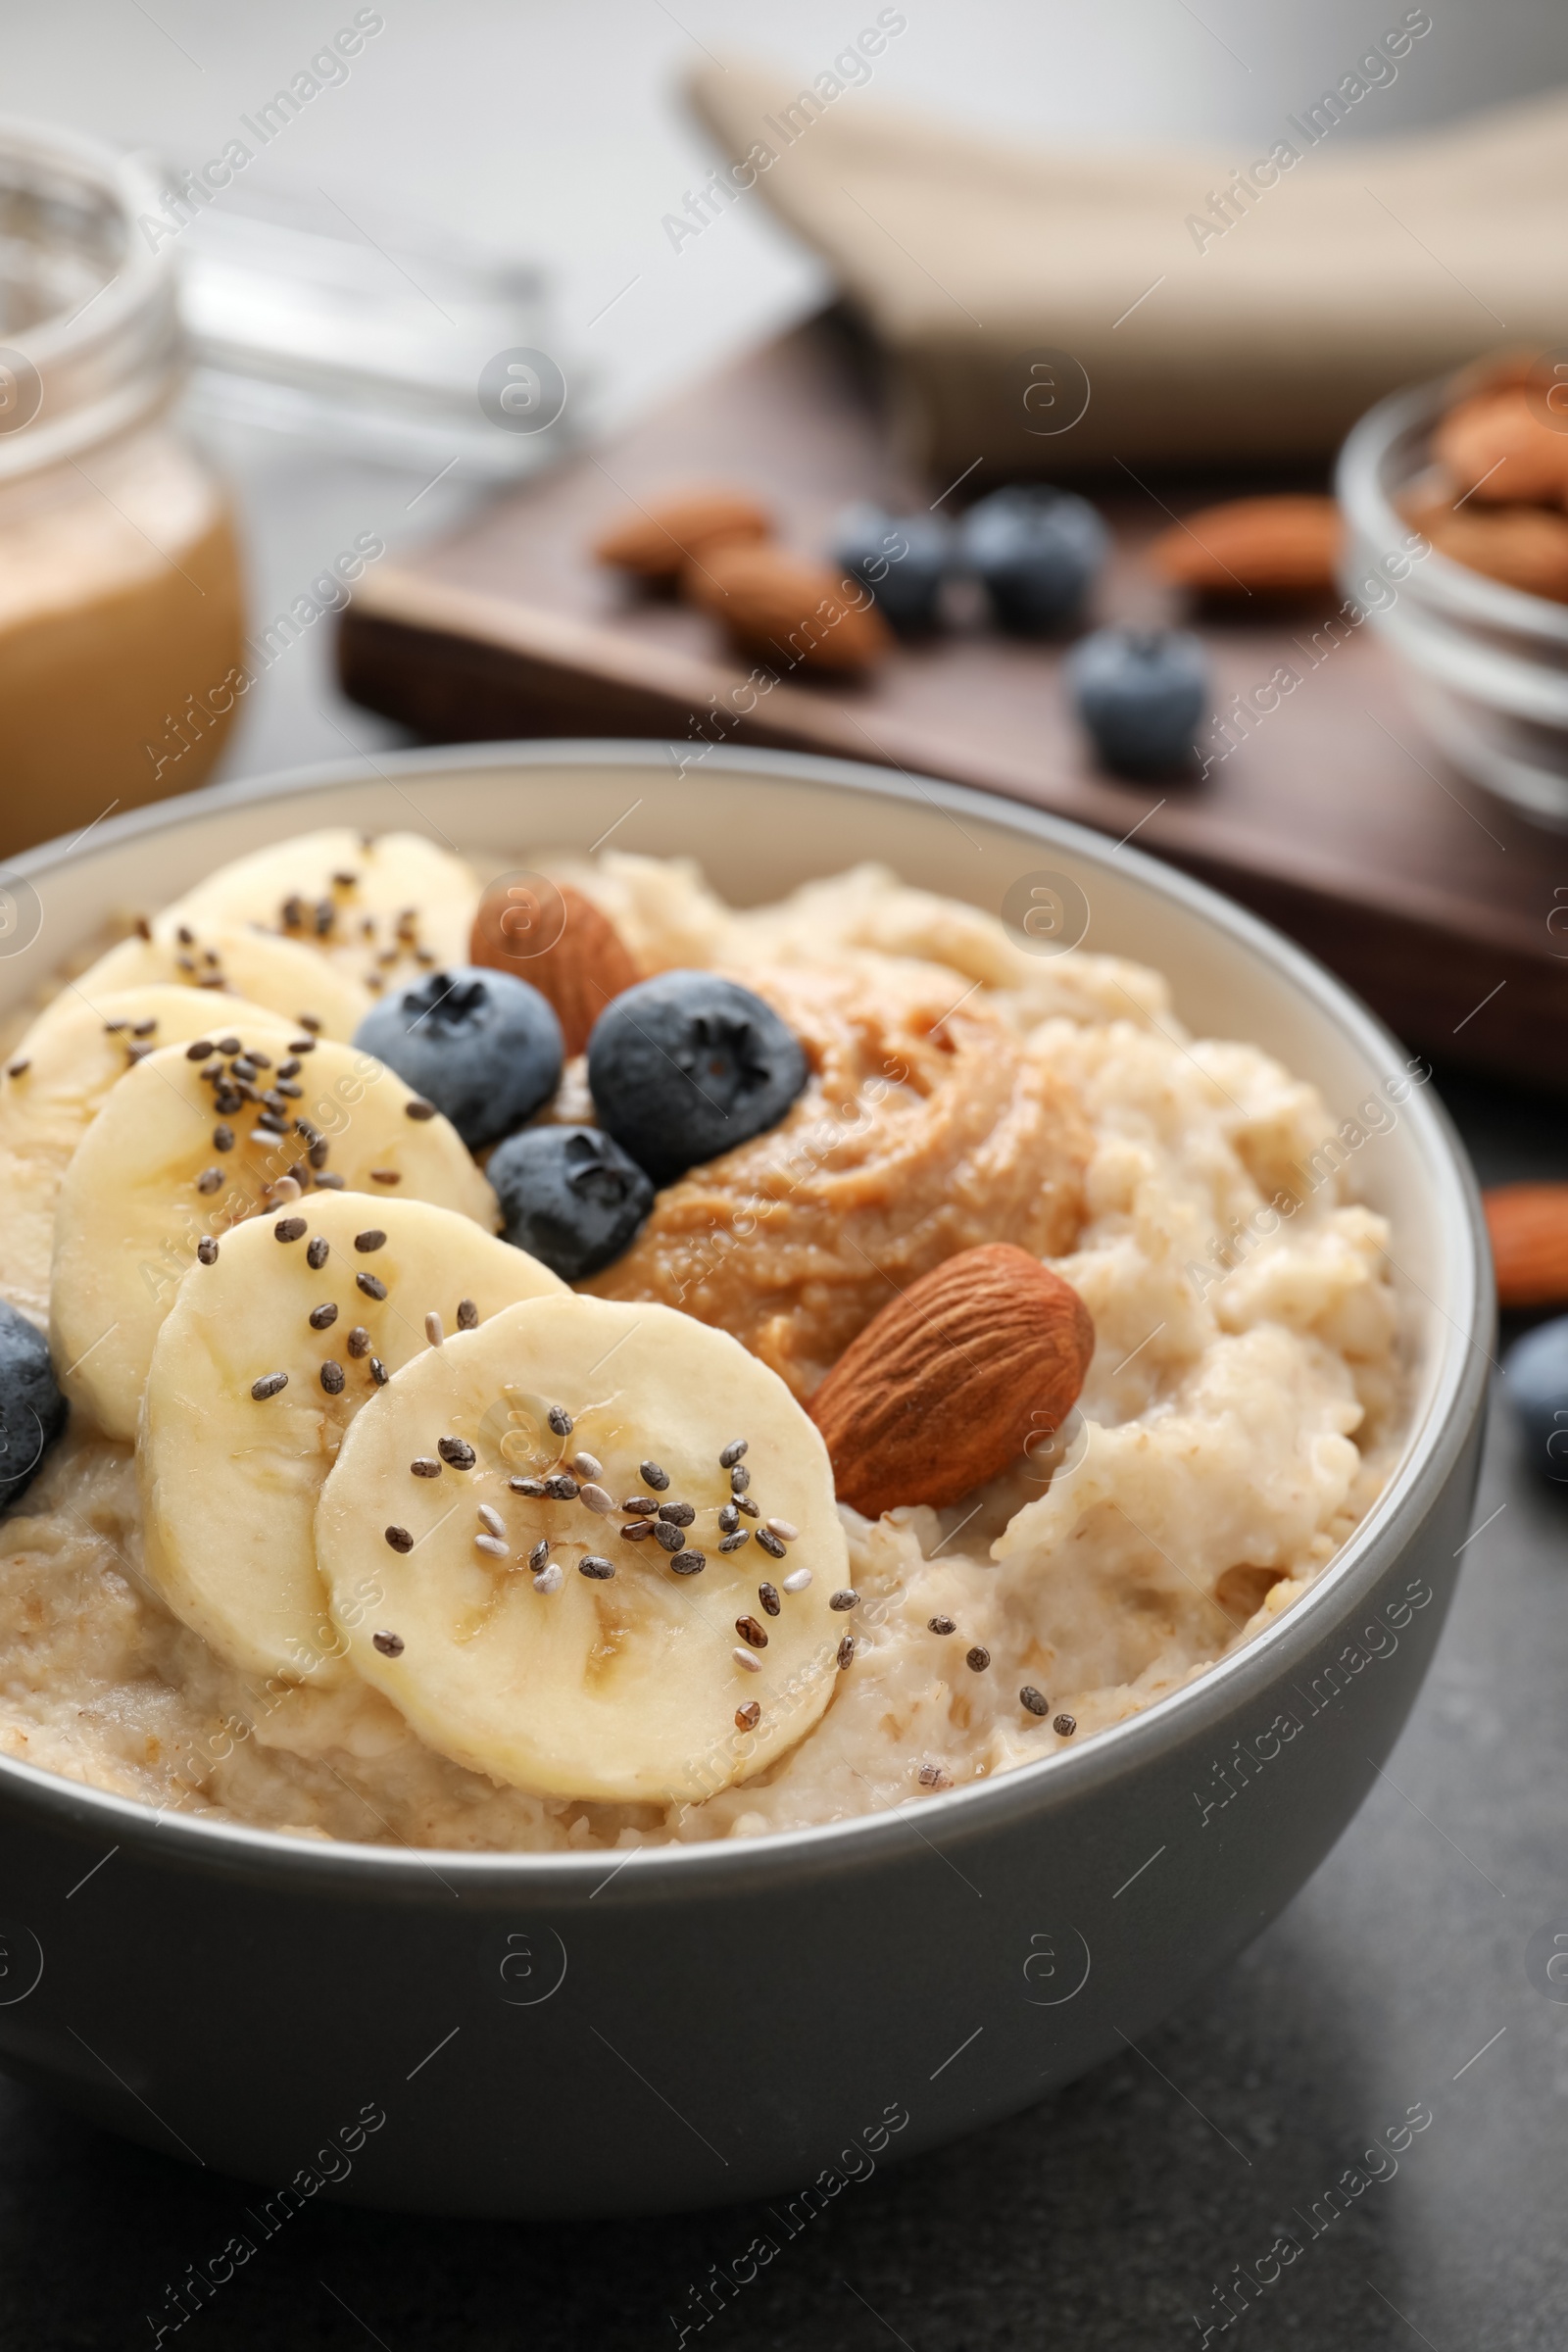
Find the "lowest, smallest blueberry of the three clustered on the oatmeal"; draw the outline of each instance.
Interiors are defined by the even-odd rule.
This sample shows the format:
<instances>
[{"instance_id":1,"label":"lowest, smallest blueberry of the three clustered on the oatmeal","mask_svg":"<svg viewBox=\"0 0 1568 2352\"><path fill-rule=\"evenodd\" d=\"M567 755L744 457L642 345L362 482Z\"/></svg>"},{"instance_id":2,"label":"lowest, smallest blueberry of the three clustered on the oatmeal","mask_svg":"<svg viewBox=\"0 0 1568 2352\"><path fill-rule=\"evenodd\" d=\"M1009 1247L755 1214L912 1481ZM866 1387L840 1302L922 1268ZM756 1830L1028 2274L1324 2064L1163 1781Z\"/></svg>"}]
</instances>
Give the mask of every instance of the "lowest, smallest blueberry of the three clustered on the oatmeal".
<instances>
[{"instance_id":1,"label":"lowest, smallest blueberry of the three clustered on the oatmeal","mask_svg":"<svg viewBox=\"0 0 1568 2352\"><path fill-rule=\"evenodd\" d=\"M618 1258L654 1207L654 1185L597 1127L524 1127L489 1155L484 1174L505 1218L503 1240L562 1282Z\"/></svg>"}]
</instances>

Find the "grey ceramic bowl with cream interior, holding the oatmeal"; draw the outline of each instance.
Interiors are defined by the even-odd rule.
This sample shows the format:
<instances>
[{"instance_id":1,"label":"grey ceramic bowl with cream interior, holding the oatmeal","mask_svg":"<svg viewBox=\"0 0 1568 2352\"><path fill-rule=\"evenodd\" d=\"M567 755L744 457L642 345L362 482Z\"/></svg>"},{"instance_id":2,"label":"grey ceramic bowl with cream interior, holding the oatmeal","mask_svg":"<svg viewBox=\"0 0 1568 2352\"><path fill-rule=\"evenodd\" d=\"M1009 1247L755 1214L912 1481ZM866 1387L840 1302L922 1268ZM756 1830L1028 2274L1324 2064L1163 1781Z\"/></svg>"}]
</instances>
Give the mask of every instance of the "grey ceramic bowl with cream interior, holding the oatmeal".
<instances>
[{"instance_id":1,"label":"grey ceramic bowl with cream interior, holding the oatmeal","mask_svg":"<svg viewBox=\"0 0 1568 2352\"><path fill-rule=\"evenodd\" d=\"M795 755L421 750L110 818L2 877L0 1007L115 908L327 823L517 863L614 833L693 854L736 901L860 858L992 910L1013 891L1161 967L1194 1030L1258 1040L1340 1117L1396 1105L1354 1174L1394 1223L1403 1458L1269 1632L1077 1750L630 1858L280 1837L0 1762L0 2063L259 2183L259 2230L313 2194L475 2216L769 2197L785 2225L863 2169L853 2150L931 2147L1140 2039L1328 1853L1420 1689L1469 1524L1476 1195L1420 1065L1251 915L1032 809Z\"/></svg>"}]
</instances>

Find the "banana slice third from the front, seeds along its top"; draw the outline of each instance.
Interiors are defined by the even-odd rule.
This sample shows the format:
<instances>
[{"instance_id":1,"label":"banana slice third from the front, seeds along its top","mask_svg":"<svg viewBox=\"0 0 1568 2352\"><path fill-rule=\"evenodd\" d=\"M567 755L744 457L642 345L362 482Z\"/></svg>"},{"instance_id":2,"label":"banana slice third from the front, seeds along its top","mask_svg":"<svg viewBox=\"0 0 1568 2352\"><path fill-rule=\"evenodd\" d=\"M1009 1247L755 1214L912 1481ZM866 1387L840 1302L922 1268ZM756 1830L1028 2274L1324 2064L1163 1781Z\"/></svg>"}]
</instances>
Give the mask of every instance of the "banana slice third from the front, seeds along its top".
<instances>
[{"instance_id":1,"label":"banana slice third from the front, seeds along its top","mask_svg":"<svg viewBox=\"0 0 1568 2352\"><path fill-rule=\"evenodd\" d=\"M214 1000L214 1009L221 1000ZM487 1232L496 1195L456 1131L374 1054L317 1044L282 1061L214 1023L244 1054L148 1054L110 1089L59 1195L49 1341L56 1376L108 1437L136 1435L158 1327L200 1247L256 1209L270 1188L339 1176L350 1192L433 1200ZM195 1040L200 1042L200 1040ZM303 1044L306 1040L294 1040ZM320 1162L320 1167L317 1167ZM296 1214L308 1216L310 1192ZM369 1202L364 1223L374 1223ZM367 1279L369 1275L367 1261Z\"/></svg>"}]
</instances>

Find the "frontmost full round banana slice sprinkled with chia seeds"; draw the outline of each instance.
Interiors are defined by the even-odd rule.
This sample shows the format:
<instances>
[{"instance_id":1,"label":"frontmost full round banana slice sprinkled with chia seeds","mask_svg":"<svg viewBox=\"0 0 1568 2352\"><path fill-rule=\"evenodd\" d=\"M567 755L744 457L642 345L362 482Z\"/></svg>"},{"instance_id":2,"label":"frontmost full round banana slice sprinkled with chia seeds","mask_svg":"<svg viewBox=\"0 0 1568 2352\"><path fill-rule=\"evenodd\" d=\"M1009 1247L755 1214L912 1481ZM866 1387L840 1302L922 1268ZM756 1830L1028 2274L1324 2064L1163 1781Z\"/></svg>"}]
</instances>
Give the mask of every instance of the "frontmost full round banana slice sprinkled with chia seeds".
<instances>
[{"instance_id":1,"label":"frontmost full round banana slice sprinkled with chia seeds","mask_svg":"<svg viewBox=\"0 0 1568 2352\"><path fill-rule=\"evenodd\" d=\"M625 1496L642 1510L604 1512ZM315 1552L360 1675L430 1748L541 1797L710 1797L818 1722L853 1642L816 1428L661 1305L541 1298L416 1355L348 1430Z\"/></svg>"}]
</instances>

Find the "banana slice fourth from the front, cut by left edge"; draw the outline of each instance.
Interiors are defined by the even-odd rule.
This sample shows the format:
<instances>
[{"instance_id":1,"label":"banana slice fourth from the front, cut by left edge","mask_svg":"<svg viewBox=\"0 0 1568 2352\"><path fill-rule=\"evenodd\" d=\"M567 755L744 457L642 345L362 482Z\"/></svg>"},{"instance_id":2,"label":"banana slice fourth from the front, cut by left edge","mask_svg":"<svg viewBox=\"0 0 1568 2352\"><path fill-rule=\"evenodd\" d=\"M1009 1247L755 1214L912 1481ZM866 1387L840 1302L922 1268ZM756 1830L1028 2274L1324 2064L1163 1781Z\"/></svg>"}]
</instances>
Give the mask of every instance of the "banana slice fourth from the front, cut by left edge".
<instances>
[{"instance_id":1,"label":"banana slice fourth from the front, cut by left edge","mask_svg":"<svg viewBox=\"0 0 1568 2352\"><path fill-rule=\"evenodd\" d=\"M226 1000L223 1018L252 1037L289 1028L256 1004ZM212 1002L193 988L122 988L87 1002L71 988L35 1021L0 1080L0 1296L49 1319L54 1207L71 1155L132 1063L202 1035Z\"/></svg>"}]
</instances>

